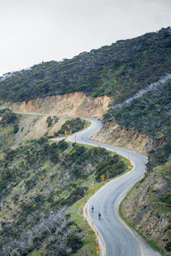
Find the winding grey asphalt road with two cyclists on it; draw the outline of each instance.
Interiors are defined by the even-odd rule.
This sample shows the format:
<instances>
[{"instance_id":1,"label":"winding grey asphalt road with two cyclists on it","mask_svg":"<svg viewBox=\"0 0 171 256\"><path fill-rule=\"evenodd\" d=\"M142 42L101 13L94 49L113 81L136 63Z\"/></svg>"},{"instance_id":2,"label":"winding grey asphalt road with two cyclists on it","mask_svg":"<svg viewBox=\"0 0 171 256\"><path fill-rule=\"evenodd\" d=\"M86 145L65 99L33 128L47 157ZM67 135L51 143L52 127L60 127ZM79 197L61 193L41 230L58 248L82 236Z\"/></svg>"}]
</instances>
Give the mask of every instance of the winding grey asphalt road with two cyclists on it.
<instances>
[{"instance_id":1,"label":"winding grey asphalt road with two cyclists on it","mask_svg":"<svg viewBox=\"0 0 171 256\"><path fill-rule=\"evenodd\" d=\"M85 118L85 120L89 119ZM89 128L76 134L76 142L98 147L98 143L89 140L89 137L97 133L101 125L94 118L90 118L90 122ZM68 136L67 141L74 142L75 135ZM113 146L101 143L99 145L114 151ZM125 157L128 156L128 150L124 148L116 147L116 152ZM86 203L88 222L90 226L93 222L94 231L99 232L99 254L101 256L161 256L118 216L118 205L122 198L145 173L147 158L130 150L129 156L133 164L132 171L104 185ZM94 206L93 213L92 205ZM101 214L100 220L99 213Z\"/></svg>"}]
</instances>

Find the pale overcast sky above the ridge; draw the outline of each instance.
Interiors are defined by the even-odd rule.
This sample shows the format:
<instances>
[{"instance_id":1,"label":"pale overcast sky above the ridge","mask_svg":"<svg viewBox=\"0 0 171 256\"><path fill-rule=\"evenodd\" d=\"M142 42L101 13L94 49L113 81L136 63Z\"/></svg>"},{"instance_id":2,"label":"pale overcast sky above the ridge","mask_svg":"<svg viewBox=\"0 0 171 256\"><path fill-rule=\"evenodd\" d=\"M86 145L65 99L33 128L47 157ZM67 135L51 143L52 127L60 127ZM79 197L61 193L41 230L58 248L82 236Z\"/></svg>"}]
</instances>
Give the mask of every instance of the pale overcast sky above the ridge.
<instances>
[{"instance_id":1,"label":"pale overcast sky above the ridge","mask_svg":"<svg viewBox=\"0 0 171 256\"><path fill-rule=\"evenodd\" d=\"M0 75L171 26L171 0L0 0Z\"/></svg>"}]
</instances>

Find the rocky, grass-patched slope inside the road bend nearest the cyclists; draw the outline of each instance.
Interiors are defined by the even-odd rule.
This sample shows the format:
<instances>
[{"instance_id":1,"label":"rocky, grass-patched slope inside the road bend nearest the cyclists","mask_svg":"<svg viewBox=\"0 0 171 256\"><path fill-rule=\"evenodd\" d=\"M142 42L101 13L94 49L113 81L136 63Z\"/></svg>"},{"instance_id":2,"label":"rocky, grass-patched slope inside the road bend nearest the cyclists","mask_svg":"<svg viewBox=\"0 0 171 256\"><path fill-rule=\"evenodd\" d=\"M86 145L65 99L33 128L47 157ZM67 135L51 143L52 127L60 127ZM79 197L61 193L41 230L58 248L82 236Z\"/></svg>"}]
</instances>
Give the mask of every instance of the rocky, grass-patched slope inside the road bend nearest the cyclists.
<instances>
[{"instance_id":1,"label":"rocky, grass-patched slope inside the road bend nearest the cyclists","mask_svg":"<svg viewBox=\"0 0 171 256\"><path fill-rule=\"evenodd\" d=\"M171 161L147 172L122 202L121 216L163 255L171 255Z\"/></svg>"}]
</instances>

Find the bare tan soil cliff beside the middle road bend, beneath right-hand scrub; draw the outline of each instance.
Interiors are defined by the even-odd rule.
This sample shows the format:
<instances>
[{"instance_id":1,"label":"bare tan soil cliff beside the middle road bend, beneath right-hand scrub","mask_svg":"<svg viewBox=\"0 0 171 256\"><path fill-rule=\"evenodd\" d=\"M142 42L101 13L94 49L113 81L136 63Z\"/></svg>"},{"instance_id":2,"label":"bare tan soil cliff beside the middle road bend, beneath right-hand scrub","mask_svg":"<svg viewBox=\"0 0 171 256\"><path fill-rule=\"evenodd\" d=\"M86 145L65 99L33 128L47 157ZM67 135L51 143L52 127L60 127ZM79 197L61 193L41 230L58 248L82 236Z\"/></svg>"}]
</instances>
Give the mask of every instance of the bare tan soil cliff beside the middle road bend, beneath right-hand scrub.
<instances>
[{"instance_id":1,"label":"bare tan soil cliff beside the middle road bend, beneath right-hand scrub","mask_svg":"<svg viewBox=\"0 0 171 256\"><path fill-rule=\"evenodd\" d=\"M93 141L124 147L132 151L147 155L151 148L158 148L164 141L164 138L153 141L145 134L135 130L125 130L119 128L114 121L108 121L99 133L91 137Z\"/></svg>"}]
</instances>

